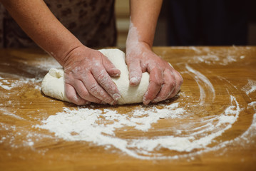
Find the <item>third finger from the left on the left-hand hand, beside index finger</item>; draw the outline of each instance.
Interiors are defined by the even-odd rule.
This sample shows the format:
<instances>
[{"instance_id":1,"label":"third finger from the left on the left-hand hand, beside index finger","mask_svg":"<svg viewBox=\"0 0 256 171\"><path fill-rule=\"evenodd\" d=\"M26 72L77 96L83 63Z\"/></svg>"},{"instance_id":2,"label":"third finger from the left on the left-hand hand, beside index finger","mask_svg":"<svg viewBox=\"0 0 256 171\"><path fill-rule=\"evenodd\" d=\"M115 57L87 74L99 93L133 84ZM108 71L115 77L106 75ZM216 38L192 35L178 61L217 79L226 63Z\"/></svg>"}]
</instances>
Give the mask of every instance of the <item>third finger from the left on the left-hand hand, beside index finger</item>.
<instances>
[{"instance_id":1,"label":"third finger from the left on the left-hand hand, beside index finger","mask_svg":"<svg viewBox=\"0 0 256 171\"><path fill-rule=\"evenodd\" d=\"M93 75L87 74L84 78L83 84L86 86L86 89L88 90L91 95L94 97L102 100L103 102L106 102L111 105L116 105L117 101L114 100L111 95L109 95L106 90L104 90L98 82L95 80Z\"/></svg>"}]
</instances>

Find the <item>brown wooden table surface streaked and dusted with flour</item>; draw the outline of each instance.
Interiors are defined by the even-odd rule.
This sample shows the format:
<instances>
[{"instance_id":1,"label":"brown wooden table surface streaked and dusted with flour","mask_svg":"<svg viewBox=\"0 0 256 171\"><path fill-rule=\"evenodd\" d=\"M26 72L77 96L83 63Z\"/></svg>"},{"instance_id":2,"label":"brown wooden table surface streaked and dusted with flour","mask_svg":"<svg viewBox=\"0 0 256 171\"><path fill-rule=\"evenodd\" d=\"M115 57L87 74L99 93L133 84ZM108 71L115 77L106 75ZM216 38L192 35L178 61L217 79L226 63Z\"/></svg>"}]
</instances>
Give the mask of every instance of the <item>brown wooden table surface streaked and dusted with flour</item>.
<instances>
[{"instance_id":1,"label":"brown wooden table surface streaked and dusted with flour","mask_svg":"<svg viewBox=\"0 0 256 171\"><path fill-rule=\"evenodd\" d=\"M124 127L114 136L121 140L141 136L145 141L193 137L189 143L200 141L200 147L178 150L171 140L168 145L158 141L148 154L139 153L140 147L131 149L136 154L132 156L113 145L68 141L36 128L50 115L63 112L63 107L78 108L41 94L43 76L58 66L53 58L35 49L2 49L0 170L256 170L256 47L155 47L154 51L172 63L184 83L175 98L148 108L161 110L175 103L186 117L161 118L145 131ZM122 115L145 108L94 106Z\"/></svg>"}]
</instances>

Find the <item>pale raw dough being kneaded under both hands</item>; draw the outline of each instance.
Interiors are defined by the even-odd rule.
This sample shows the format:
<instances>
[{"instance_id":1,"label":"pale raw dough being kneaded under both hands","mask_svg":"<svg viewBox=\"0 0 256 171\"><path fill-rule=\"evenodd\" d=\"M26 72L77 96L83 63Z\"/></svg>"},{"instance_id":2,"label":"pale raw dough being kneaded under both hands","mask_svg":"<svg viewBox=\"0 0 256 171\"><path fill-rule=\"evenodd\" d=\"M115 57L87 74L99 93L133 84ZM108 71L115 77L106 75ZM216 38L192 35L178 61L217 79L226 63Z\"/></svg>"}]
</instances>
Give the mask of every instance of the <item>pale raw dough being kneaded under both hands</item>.
<instances>
[{"instance_id":1,"label":"pale raw dough being kneaded under both hands","mask_svg":"<svg viewBox=\"0 0 256 171\"><path fill-rule=\"evenodd\" d=\"M125 61L125 53L118 49L101 49L99 50L104 56L121 71L121 76L112 78L121 93L118 104L141 103L143 95L148 89L149 74L143 73L138 86L129 86L128 66ZM59 100L68 101L65 95L63 68L52 68L43 78L42 91L45 95Z\"/></svg>"}]
</instances>

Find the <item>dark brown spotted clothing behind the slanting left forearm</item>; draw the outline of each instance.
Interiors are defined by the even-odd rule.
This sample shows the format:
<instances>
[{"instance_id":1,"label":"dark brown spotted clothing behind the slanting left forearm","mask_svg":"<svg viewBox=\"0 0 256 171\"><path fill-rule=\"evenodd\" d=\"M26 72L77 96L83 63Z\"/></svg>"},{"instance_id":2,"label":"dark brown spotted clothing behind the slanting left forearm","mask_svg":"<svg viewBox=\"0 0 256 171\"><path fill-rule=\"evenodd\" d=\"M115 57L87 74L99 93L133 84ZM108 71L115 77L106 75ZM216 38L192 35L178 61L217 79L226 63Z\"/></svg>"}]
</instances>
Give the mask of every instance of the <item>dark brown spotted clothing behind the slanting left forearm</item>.
<instances>
[{"instance_id":1,"label":"dark brown spotted clothing behind the slanting left forearm","mask_svg":"<svg viewBox=\"0 0 256 171\"><path fill-rule=\"evenodd\" d=\"M45 0L47 6L84 45L116 46L115 0ZM33 48L36 43L0 4L0 47Z\"/></svg>"}]
</instances>

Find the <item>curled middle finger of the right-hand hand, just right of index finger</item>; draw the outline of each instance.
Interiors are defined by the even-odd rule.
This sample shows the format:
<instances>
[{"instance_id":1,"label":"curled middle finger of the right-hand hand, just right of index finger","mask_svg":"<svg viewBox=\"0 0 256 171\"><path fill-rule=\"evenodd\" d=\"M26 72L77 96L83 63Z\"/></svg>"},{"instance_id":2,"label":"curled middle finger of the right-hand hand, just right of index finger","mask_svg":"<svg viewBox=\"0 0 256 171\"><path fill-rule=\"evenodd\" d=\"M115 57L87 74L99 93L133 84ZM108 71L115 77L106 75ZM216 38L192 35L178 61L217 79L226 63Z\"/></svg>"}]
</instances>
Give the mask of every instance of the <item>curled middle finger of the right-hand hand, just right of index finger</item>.
<instances>
[{"instance_id":1,"label":"curled middle finger of the right-hand hand, just right of index finger","mask_svg":"<svg viewBox=\"0 0 256 171\"><path fill-rule=\"evenodd\" d=\"M165 69L163 72L164 83L158 95L152 100L153 103L167 99L175 90L176 81L172 71Z\"/></svg>"}]
</instances>

